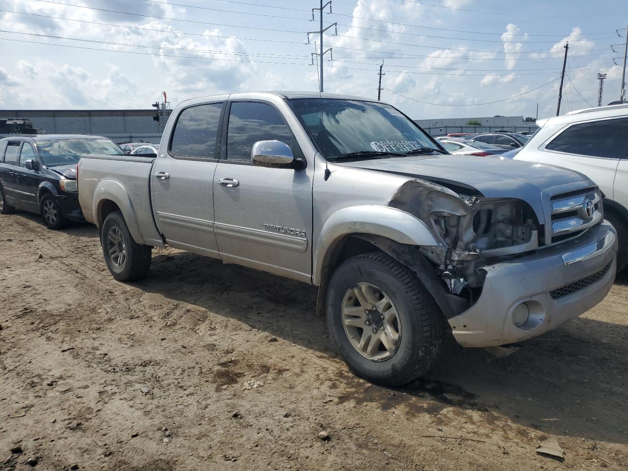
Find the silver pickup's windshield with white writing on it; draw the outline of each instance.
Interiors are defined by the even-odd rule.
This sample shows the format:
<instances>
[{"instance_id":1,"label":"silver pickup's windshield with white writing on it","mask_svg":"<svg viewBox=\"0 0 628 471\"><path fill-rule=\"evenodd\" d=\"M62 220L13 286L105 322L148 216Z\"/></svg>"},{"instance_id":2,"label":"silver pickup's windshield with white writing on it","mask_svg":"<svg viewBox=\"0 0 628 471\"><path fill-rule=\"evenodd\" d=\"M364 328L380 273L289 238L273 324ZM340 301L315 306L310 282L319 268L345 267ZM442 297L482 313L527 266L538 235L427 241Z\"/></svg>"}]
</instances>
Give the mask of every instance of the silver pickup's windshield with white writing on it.
<instances>
[{"instance_id":1,"label":"silver pickup's windshield with white writing on it","mask_svg":"<svg viewBox=\"0 0 628 471\"><path fill-rule=\"evenodd\" d=\"M355 153L405 155L416 149L443 152L392 106L319 98L290 101L326 158Z\"/></svg>"}]
</instances>

